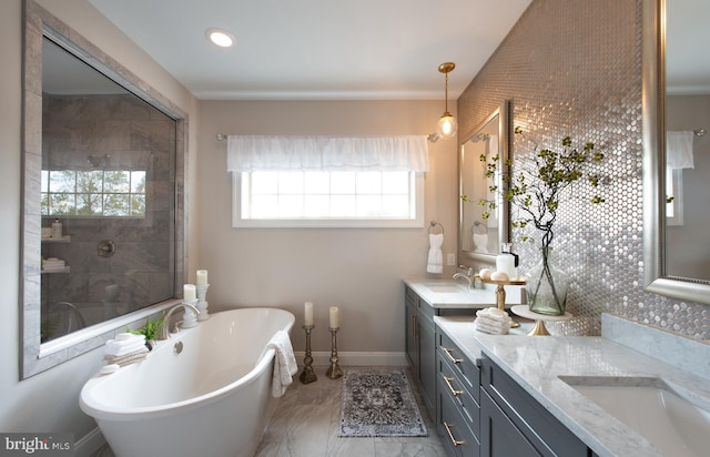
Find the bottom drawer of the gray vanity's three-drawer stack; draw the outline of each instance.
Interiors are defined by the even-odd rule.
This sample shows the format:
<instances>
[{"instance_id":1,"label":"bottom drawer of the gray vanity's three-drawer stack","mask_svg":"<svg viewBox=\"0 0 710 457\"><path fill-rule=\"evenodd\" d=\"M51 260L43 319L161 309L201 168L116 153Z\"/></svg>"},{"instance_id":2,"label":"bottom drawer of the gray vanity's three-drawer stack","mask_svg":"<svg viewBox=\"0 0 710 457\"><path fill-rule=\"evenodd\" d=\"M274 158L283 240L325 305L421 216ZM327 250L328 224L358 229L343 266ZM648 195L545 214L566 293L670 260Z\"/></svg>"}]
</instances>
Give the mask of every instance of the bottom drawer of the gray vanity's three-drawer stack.
<instances>
[{"instance_id":1,"label":"bottom drawer of the gray vanity's three-drawer stack","mask_svg":"<svg viewBox=\"0 0 710 457\"><path fill-rule=\"evenodd\" d=\"M442 383L443 380L439 379L436 425L442 437L442 444L449 451L449 455L479 457L480 445L478 439L466 424L466 419L462 417L460 410L450 395L445 393L446 386Z\"/></svg>"}]
</instances>

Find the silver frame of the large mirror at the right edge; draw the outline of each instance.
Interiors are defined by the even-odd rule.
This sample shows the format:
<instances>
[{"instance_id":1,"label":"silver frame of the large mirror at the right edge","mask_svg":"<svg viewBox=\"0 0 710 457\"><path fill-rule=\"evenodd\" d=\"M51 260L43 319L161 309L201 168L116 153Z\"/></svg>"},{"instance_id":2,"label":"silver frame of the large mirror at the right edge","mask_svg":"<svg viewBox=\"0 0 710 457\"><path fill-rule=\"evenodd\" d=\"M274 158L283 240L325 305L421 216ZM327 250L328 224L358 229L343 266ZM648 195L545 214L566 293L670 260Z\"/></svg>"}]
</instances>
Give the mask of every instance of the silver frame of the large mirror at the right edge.
<instances>
[{"instance_id":1,"label":"silver frame of the large mirror at the right edge","mask_svg":"<svg viewBox=\"0 0 710 457\"><path fill-rule=\"evenodd\" d=\"M645 290L708 303L707 281L670 276L666 270L666 0L645 0L642 8Z\"/></svg>"}]
</instances>

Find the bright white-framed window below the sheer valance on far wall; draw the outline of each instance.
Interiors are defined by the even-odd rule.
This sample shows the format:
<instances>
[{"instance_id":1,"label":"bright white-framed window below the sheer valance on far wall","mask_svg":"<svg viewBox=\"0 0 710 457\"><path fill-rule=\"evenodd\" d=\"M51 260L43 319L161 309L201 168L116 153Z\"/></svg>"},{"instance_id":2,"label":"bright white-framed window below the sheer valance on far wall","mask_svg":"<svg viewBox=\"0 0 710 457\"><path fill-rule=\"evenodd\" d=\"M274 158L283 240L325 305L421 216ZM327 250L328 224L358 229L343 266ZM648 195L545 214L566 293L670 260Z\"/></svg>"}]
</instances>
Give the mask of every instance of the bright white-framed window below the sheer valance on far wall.
<instances>
[{"instance_id":1,"label":"bright white-framed window below the sheer valance on far wall","mask_svg":"<svg viewBox=\"0 0 710 457\"><path fill-rule=\"evenodd\" d=\"M260 171L234 176L233 226L422 226L423 176L415 172Z\"/></svg>"}]
</instances>

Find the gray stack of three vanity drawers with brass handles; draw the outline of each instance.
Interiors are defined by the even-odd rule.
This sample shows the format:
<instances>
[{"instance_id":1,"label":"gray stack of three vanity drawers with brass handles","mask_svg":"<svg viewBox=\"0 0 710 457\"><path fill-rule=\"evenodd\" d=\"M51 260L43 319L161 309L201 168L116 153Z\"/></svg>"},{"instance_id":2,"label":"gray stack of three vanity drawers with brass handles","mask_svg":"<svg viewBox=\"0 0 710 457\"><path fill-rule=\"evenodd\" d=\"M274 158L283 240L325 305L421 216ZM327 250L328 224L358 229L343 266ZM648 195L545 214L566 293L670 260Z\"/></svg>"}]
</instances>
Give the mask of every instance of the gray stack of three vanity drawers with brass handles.
<instances>
[{"instance_id":1,"label":"gray stack of three vanity drawers with brass handles","mask_svg":"<svg viewBox=\"0 0 710 457\"><path fill-rule=\"evenodd\" d=\"M452 456L480 455L480 372L444 333L437 332L436 428Z\"/></svg>"}]
</instances>

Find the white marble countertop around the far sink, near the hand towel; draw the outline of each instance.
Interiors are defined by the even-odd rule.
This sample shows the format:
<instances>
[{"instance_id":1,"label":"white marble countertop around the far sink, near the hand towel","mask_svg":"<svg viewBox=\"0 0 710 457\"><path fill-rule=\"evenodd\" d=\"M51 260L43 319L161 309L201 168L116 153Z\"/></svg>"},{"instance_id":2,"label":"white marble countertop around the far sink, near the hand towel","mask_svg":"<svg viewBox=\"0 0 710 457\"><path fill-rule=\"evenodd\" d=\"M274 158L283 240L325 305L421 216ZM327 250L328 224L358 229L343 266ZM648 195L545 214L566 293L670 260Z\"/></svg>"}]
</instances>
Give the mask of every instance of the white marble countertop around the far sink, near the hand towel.
<instances>
[{"instance_id":1,"label":"white marble countertop around the far sink, near the hand towel","mask_svg":"<svg viewBox=\"0 0 710 457\"><path fill-rule=\"evenodd\" d=\"M435 308L483 308L496 304L495 284L486 284L486 287L481 288L469 288L464 282L454 280L404 280L404 282ZM460 292L435 292L427 285L457 285ZM521 286L506 286L506 305L520 304L521 297Z\"/></svg>"}]
</instances>

